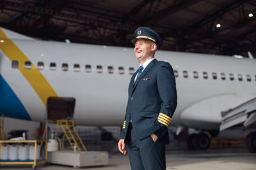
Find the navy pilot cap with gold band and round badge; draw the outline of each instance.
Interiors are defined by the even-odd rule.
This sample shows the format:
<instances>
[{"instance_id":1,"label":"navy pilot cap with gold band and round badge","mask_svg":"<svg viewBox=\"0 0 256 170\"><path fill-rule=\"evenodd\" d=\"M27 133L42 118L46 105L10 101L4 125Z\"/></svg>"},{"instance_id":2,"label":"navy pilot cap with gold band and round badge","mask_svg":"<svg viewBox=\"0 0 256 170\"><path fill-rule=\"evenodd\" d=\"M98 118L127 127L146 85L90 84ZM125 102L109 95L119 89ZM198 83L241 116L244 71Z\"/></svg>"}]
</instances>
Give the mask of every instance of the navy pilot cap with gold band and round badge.
<instances>
[{"instance_id":1,"label":"navy pilot cap with gold band and round badge","mask_svg":"<svg viewBox=\"0 0 256 170\"><path fill-rule=\"evenodd\" d=\"M157 49L159 49L163 45L163 41L159 34L156 33L153 29L150 29L148 27L138 27L134 31L134 36L135 38L132 39L132 43L135 44L137 39L143 38L143 39L148 39L150 41L153 41L157 45Z\"/></svg>"}]
</instances>

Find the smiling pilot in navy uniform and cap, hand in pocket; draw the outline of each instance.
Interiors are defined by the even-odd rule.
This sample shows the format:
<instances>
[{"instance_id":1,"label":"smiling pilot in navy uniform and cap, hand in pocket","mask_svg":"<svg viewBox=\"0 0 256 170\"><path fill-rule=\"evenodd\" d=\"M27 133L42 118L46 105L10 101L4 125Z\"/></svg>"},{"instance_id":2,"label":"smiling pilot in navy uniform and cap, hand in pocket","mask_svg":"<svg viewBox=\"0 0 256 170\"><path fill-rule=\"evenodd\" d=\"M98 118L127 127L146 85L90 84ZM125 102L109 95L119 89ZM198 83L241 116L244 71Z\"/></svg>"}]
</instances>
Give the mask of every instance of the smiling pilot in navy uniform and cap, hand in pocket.
<instances>
[{"instance_id":1,"label":"smiling pilot in navy uniform and cap, hand in pocket","mask_svg":"<svg viewBox=\"0 0 256 170\"><path fill-rule=\"evenodd\" d=\"M118 148L129 155L132 170L163 170L168 124L177 106L175 76L168 62L154 59L163 44L148 27L134 32L134 52L140 68L129 84L129 98Z\"/></svg>"}]
</instances>

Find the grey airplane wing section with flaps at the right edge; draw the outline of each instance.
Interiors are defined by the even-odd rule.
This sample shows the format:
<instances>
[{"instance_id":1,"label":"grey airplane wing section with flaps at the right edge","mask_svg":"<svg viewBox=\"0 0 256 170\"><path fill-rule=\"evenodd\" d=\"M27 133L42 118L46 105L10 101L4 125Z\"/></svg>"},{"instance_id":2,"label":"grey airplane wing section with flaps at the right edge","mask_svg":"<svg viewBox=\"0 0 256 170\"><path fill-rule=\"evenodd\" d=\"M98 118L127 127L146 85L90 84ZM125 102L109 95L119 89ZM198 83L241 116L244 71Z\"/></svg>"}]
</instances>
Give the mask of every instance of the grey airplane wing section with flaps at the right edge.
<instances>
[{"instance_id":1,"label":"grey airplane wing section with flaps at the right edge","mask_svg":"<svg viewBox=\"0 0 256 170\"><path fill-rule=\"evenodd\" d=\"M240 104L228 111L221 111L220 131L243 125L244 127L256 126L256 97Z\"/></svg>"}]
</instances>

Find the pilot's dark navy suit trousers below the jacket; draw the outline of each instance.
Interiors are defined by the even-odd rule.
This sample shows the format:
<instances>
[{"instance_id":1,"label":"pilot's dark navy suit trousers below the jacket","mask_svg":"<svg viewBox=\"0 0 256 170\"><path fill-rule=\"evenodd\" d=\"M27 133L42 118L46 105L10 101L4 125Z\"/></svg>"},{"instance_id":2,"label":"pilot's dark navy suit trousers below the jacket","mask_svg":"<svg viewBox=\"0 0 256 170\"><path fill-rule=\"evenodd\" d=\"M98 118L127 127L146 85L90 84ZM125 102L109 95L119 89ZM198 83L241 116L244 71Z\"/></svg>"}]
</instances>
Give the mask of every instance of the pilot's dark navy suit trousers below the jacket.
<instances>
[{"instance_id":1,"label":"pilot's dark navy suit trousers below the jacket","mask_svg":"<svg viewBox=\"0 0 256 170\"><path fill-rule=\"evenodd\" d=\"M159 137L156 142L151 136L139 139L131 122L127 129L127 153L132 170L165 170L165 144Z\"/></svg>"}]
</instances>

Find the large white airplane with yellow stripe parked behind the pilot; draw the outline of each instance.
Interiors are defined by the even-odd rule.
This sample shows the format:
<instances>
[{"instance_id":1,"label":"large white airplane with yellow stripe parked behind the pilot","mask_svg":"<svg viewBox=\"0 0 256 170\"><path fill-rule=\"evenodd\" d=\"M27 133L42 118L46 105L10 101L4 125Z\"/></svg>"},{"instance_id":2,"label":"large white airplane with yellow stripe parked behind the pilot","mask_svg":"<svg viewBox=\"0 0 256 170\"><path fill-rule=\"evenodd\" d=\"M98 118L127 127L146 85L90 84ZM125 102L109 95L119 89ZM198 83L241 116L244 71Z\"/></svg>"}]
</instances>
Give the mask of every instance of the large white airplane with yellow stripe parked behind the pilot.
<instances>
[{"instance_id":1,"label":"large white airplane with yellow stripe parked behind the pilot","mask_svg":"<svg viewBox=\"0 0 256 170\"><path fill-rule=\"evenodd\" d=\"M184 127L196 130L189 135L190 148L209 148L208 134L223 129L255 130L256 104L234 123L234 110L256 101L255 59L164 50L156 59L173 67L178 104L170 126L178 127L177 134ZM76 125L122 126L129 81L139 66L133 48L41 41L0 27L0 113L37 122L64 117ZM256 132L246 138L250 152L256 152L255 139Z\"/></svg>"}]
</instances>

